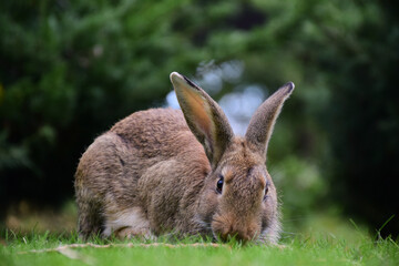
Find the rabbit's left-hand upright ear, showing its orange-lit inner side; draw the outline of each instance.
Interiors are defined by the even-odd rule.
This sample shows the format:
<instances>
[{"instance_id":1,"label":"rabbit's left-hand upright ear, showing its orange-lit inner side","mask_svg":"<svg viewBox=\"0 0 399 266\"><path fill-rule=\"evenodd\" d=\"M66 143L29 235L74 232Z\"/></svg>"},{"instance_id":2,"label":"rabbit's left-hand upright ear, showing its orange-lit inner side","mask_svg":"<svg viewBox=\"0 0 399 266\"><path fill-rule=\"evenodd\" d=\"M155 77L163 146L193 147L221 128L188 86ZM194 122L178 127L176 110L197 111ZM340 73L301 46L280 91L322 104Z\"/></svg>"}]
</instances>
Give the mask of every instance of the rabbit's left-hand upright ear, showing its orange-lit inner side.
<instances>
[{"instance_id":1,"label":"rabbit's left-hand upright ear, showing its orange-lit inner side","mask_svg":"<svg viewBox=\"0 0 399 266\"><path fill-rule=\"evenodd\" d=\"M171 74L171 81L190 130L204 146L212 167L216 167L233 137L233 130L218 104L184 75Z\"/></svg>"}]
</instances>

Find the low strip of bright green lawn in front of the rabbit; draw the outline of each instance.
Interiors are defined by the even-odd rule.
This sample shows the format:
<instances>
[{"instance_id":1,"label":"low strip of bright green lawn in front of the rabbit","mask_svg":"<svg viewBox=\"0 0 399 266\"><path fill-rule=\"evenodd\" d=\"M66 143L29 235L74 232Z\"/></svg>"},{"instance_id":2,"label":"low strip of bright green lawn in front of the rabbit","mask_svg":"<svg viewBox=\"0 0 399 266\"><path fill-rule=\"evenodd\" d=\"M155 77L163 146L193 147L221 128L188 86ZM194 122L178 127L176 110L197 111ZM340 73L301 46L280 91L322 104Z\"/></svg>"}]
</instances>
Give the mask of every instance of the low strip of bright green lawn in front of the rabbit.
<instances>
[{"instance_id":1,"label":"low strip of bright green lawn in front of the rabbit","mask_svg":"<svg viewBox=\"0 0 399 266\"><path fill-rule=\"evenodd\" d=\"M65 253L31 250L82 243L75 233L20 235L7 231L2 235L0 265L399 265L396 242L375 241L366 235L348 241L331 234L309 234L285 238L284 248L239 243L217 247L180 246L192 244L193 239L172 243L173 247L143 247L134 241L94 239L92 243L100 245L133 243L134 246L68 248Z\"/></svg>"}]
</instances>

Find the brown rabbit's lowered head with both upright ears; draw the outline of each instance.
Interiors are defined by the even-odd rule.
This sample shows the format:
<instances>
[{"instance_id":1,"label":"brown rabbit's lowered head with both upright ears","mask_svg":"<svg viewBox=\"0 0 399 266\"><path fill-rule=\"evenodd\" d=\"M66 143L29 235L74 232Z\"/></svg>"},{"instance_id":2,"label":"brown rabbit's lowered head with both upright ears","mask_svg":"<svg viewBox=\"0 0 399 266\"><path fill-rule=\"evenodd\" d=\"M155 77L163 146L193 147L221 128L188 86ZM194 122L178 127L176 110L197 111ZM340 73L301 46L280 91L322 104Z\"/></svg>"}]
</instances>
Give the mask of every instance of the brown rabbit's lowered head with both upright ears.
<instances>
[{"instance_id":1,"label":"brown rabbit's lowered head with both upright ears","mask_svg":"<svg viewBox=\"0 0 399 266\"><path fill-rule=\"evenodd\" d=\"M211 163L198 198L196 222L215 238L276 243L279 234L277 193L266 170L266 151L284 101L285 84L252 117L245 136L235 136L218 104L176 72L171 74L188 127Z\"/></svg>"}]
</instances>

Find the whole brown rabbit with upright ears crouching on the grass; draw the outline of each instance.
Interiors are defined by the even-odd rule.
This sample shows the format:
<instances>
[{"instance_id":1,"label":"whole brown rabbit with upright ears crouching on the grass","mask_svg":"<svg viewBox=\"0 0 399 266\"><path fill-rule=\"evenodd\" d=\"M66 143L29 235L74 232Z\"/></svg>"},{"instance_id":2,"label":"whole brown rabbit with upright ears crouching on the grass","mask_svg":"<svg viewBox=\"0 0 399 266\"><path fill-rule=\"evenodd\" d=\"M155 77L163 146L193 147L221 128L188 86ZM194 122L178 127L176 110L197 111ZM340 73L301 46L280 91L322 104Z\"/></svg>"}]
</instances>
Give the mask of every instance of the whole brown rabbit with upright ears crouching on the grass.
<instances>
[{"instance_id":1,"label":"whole brown rabbit with upright ears crouching on the grass","mask_svg":"<svg viewBox=\"0 0 399 266\"><path fill-rule=\"evenodd\" d=\"M173 72L180 110L133 113L99 136L75 173L79 233L154 238L165 233L277 243L276 188L265 165L285 84L235 136L202 89Z\"/></svg>"}]
</instances>

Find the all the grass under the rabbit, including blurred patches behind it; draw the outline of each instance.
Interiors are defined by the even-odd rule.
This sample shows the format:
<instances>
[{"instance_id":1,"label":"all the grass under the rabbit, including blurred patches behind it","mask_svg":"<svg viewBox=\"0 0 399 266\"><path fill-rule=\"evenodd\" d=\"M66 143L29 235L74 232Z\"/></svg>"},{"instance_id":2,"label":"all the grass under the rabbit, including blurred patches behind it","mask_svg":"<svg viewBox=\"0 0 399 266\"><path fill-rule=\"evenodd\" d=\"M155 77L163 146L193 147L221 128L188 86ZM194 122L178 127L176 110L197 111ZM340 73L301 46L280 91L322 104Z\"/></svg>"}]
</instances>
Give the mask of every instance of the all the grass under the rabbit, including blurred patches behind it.
<instances>
[{"instance_id":1,"label":"all the grass under the rabbit, including blurred patches behind it","mask_svg":"<svg viewBox=\"0 0 399 266\"><path fill-rule=\"evenodd\" d=\"M20 209L30 208L22 205ZM284 248L243 246L234 242L211 246L209 242L188 238L180 242L158 239L161 245L95 238L91 243L102 248L89 245L71 247L68 245L85 244L74 232L75 221L73 203L65 204L59 213L11 212L6 218L4 229L0 229L0 266L399 265L398 242L383 239L378 232L371 237L366 227L344 219L337 211L285 219L280 243ZM296 224L298 221L300 227ZM60 233L63 231L69 233ZM198 242L204 245L196 245Z\"/></svg>"}]
</instances>

